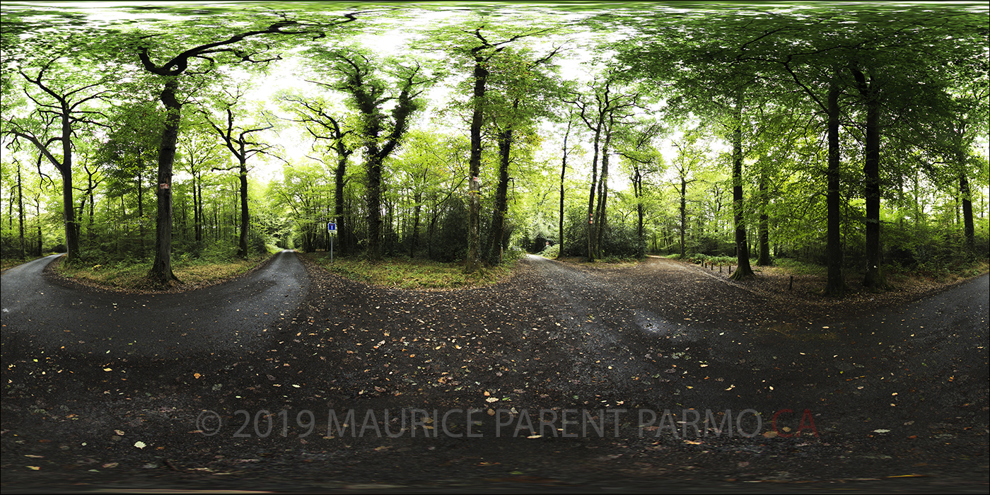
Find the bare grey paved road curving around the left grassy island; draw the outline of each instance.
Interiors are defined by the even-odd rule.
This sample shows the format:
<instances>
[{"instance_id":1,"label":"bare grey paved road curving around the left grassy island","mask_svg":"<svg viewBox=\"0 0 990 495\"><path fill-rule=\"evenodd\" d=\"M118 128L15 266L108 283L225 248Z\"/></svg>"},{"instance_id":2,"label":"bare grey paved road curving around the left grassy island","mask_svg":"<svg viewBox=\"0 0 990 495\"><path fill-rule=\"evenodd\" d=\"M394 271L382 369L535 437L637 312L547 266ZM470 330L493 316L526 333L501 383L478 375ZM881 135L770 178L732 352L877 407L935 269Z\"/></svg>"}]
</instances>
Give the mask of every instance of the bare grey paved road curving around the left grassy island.
<instances>
[{"instance_id":1,"label":"bare grey paved road curving around the left grassy island","mask_svg":"<svg viewBox=\"0 0 990 495\"><path fill-rule=\"evenodd\" d=\"M43 275L58 255L3 274L4 333L62 352L168 357L246 347L305 297L306 269L290 250L246 277L175 294L66 287ZM269 330L270 331L270 330Z\"/></svg>"}]
</instances>

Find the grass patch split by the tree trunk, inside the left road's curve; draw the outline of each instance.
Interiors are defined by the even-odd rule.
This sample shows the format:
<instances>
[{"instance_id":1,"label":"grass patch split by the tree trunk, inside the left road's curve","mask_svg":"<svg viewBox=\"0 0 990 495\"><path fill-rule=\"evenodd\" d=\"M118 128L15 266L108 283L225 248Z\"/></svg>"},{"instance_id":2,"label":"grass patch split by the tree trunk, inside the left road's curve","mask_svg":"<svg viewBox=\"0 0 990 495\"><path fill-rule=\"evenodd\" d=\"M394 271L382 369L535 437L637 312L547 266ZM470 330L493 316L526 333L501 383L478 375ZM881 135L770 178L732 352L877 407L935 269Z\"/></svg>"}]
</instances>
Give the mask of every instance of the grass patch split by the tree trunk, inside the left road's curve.
<instances>
[{"instance_id":1,"label":"grass patch split by the tree trunk, inside the left road's curve","mask_svg":"<svg viewBox=\"0 0 990 495\"><path fill-rule=\"evenodd\" d=\"M240 275L253 268L270 254L255 255L247 259L235 258L228 261L207 259L172 259L172 273L183 283L184 289L213 285L228 278ZM122 261L113 264L74 265L55 262L54 270L65 278L106 288L123 290L153 290L148 280L151 261Z\"/></svg>"}]
</instances>

